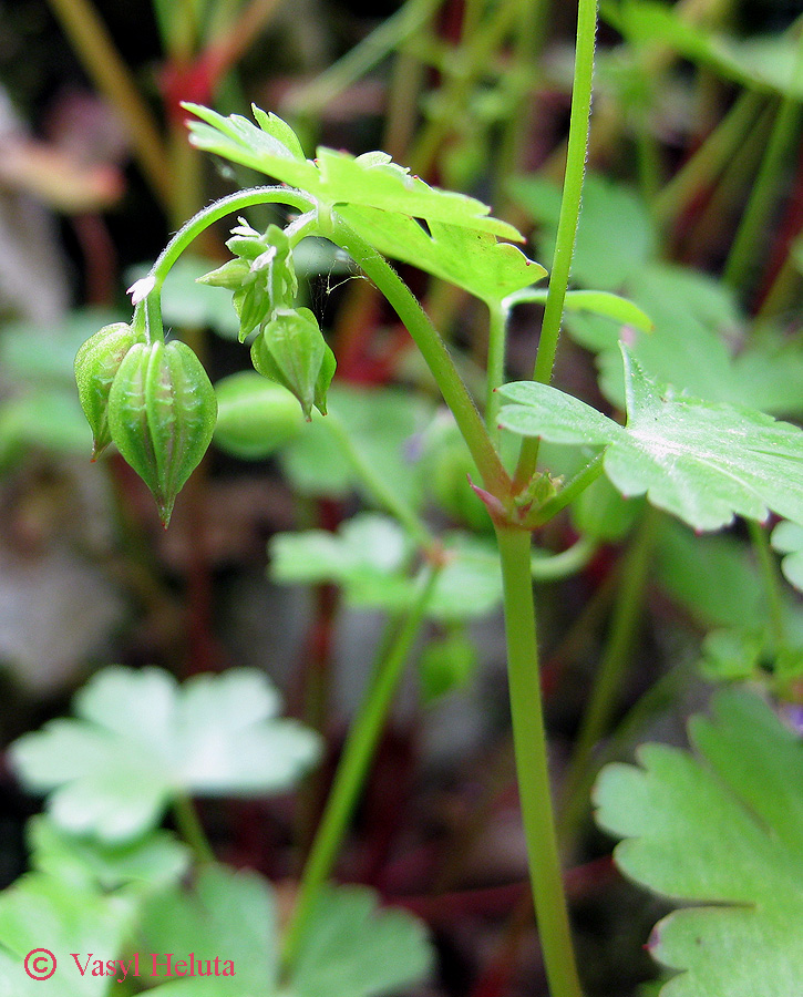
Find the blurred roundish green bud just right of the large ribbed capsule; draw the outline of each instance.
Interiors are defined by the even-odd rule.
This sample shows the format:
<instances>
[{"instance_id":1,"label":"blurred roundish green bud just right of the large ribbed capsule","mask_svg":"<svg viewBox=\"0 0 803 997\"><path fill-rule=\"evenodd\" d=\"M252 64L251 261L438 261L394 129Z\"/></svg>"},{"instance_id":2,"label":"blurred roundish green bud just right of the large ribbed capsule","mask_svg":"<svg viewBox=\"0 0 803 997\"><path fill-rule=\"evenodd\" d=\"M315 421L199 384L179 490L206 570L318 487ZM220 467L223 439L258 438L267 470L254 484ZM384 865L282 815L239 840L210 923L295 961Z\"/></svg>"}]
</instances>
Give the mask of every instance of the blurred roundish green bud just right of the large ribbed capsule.
<instances>
[{"instance_id":1,"label":"blurred roundish green bud just right of the large ribbed capsule","mask_svg":"<svg viewBox=\"0 0 803 997\"><path fill-rule=\"evenodd\" d=\"M243 460L269 456L303 425L290 392L254 370L223 378L215 384L215 443Z\"/></svg>"}]
</instances>

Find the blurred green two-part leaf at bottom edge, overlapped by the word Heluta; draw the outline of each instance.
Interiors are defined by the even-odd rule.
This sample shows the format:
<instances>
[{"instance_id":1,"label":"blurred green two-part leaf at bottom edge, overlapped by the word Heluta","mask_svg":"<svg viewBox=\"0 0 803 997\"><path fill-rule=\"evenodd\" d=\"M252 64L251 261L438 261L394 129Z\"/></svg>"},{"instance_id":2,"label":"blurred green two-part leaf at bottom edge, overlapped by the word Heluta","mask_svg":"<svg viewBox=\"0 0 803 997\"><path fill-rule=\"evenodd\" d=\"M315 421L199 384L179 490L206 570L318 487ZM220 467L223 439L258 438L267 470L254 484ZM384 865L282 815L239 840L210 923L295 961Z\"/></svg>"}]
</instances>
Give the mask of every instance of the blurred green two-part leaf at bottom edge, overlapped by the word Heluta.
<instances>
[{"instance_id":1,"label":"blurred green two-part leaf at bottom edge, overlapped by the word Heluta","mask_svg":"<svg viewBox=\"0 0 803 997\"><path fill-rule=\"evenodd\" d=\"M154 897L143 917L141 950L174 953L185 963L194 953L204 963L210 958L213 970L215 956L220 960L218 977L174 976L154 995L381 997L419 981L430 968L432 952L419 921L403 911L380 911L370 890L338 887L326 890L313 907L280 984L276 906L261 876L224 866L203 870L192 890ZM234 976L223 977L224 960L234 964ZM146 972L152 968L151 960Z\"/></svg>"}]
</instances>

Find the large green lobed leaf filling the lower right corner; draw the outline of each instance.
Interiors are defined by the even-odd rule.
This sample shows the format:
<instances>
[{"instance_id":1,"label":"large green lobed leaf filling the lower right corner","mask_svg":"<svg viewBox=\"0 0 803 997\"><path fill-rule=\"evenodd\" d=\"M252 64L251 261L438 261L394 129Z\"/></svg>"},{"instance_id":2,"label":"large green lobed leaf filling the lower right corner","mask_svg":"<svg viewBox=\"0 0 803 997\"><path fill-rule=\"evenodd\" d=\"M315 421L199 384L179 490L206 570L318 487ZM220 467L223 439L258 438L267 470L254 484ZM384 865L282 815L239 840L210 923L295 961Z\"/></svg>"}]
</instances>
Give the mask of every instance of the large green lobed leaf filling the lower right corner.
<instances>
[{"instance_id":1,"label":"large green lobed leaf filling the lower right corner","mask_svg":"<svg viewBox=\"0 0 803 997\"><path fill-rule=\"evenodd\" d=\"M676 901L652 955L684 970L662 997L792 997L803 986L803 742L759 698L728 691L697 717L698 757L639 749L608 765L599 824L626 875Z\"/></svg>"}]
</instances>

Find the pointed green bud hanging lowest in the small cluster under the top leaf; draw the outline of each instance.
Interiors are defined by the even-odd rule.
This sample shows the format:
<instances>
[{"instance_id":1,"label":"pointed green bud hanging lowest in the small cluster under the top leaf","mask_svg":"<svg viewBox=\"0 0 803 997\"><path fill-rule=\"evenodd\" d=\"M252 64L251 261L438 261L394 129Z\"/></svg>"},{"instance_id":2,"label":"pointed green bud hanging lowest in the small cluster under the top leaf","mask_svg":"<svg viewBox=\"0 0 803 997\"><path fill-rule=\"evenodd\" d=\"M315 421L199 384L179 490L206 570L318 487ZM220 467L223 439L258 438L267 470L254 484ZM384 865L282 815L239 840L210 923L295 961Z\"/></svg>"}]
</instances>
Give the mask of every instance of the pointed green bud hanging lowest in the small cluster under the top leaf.
<instances>
[{"instance_id":1,"label":"pointed green bud hanging lowest in the small cluster under the top leaf","mask_svg":"<svg viewBox=\"0 0 803 997\"><path fill-rule=\"evenodd\" d=\"M326 415L326 398L337 361L309 308L277 311L251 346L251 362L301 403L309 421L315 405Z\"/></svg>"}]
</instances>

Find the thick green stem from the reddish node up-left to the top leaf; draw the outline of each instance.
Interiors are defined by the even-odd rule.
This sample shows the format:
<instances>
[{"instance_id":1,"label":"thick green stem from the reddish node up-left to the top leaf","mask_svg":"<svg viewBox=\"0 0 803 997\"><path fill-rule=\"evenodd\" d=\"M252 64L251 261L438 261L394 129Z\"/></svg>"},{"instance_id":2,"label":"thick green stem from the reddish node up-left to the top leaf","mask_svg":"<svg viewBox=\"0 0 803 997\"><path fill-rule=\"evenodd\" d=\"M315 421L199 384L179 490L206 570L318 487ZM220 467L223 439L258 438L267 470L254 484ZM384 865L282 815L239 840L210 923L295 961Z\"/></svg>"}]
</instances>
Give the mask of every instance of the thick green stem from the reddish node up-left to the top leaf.
<instances>
[{"instance_id":1,"label":"thick green stem from the reddish node up-left to the top leaf","mask_svg":"<svg viewBox=\"0 0 803 997\"><path fill-rule=\"evenodd\" d=\"M426 361L444 401L452 410L485 487L497 497L506 495L509 491L507 472L445 343L413 292L370 243L358 236L340 219L334 219L333 230L331 234L327 233L327 237L351 256L395 309Z\"/></svg>"}]
</instances>

